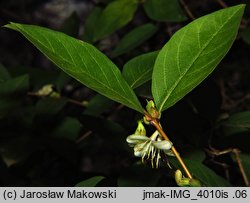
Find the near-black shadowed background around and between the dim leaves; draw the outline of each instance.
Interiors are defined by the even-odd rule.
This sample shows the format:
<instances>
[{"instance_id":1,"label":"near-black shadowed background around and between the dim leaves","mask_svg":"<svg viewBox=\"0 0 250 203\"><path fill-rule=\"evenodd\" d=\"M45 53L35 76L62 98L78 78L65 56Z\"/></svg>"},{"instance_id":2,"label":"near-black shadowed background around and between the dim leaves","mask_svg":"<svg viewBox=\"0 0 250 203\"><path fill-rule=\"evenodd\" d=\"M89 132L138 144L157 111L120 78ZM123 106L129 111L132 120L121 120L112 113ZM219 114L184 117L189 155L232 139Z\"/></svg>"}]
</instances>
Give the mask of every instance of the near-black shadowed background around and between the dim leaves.
<instances>
[{"instance_id":1,"label":"near-black shadowed background around and between the dim leaves","mask_svg":"<svg viewBox=\"0 0 250 203\"><path fill-rule=\"evenodd\" d=\"M222 8L213 0L186 0L185 3L196 18ZM228 6L248 5L249 1L226 3ZM104 7L106 2L0 1L0 25L9 22L36 24L81 39L85 19L97 5ZM67 24L73 12L76 12L71 18L73 21ZM250 152L248 131L224 136L225 129L218 125L222 118L250 109L250 45L241 37L248 26L249 13L247 6L244 15L247 23L240 28L233 47L216 70L163 114L163 127L183 154L195 149L206 151L210 146L218 150L238 148L244 153ZM95 46L110 56L124 33L149 21L139 7L128 25ZM170 38L169 33L188 22L191 19L181 23L158 22L160 29L150 40L113 61L122 67L134 56L160 49ZM85 103L95 98L96 93L61 73L20 34L5 28L0 29L0 63L13 78L29 74L28 87L13 96L17 103L0 118L1 186L74 186L96 175L106 177L99 183L103 186L175 186L169 169L154 170L150 164L140 165L127 146L126 136L134 132L136 120L140 118L136 112L100 97L92 107L99 112L83 115L86 105L27 95L46 84L54 84L64 98ZM139 88L138 94L150 97L148 87ZM144 97L141 101L145 104ZM208 153L204 163L233 185L244 185L230 154L213 157ZM228 176L225 170L229 171Z\"/></svg>"}]
</instances>

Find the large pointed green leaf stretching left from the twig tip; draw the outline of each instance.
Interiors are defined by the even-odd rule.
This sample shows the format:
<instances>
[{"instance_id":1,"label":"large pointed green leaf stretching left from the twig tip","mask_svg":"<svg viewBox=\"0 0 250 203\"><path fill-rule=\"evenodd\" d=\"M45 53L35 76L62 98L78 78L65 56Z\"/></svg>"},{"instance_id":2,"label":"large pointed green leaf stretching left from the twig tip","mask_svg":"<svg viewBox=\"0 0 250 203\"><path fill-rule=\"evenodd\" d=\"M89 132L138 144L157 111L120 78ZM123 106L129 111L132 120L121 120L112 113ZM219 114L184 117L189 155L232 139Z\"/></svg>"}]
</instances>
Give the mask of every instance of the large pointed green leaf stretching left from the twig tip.
<instances>
[{"instance_id":1,"label":"large pointed green leaf stretching left from the twig tip","mask_svg":"<svg viewBox=\"0 0 250 203\"><path fill-rule=\"evenodd\" d=\"M39 26L11 23L67 74L100 94L139 112L143 108L120 70L94 46Z\"/></svg>"}]
</instances>

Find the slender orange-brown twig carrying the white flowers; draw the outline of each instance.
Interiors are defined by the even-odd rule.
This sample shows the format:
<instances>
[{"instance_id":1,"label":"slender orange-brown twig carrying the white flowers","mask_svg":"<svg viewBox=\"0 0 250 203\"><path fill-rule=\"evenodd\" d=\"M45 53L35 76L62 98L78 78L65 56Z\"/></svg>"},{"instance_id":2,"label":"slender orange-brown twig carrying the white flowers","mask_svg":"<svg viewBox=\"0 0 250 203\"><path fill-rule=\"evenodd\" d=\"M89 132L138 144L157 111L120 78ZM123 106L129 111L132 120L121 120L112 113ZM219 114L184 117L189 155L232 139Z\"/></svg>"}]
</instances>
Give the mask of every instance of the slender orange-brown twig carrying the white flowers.
<instances>
[{"instance_id":1,"label":"slender orange-brown twig carrying the white flowers","mask_svg":"<svg viewBox=\"0 0 250 203\"><path fill-rule=\"evenodd\" d=\"M170 141L170 139L168 138L168 136L166 135L166 133L163 131L162 127L160 126L160 123L157 119L152 118L147 112L145 112L145 116L147 117L147 120L150 121L151 125L153 125L161 134L161 136L167 140ZM171 148L172 152L174 153L174 155L176 156L177 160L179 161L179 163L181 164L183 170L185 171L186 175L188 178L192 179L192 175L189 172L187 166L185 165L184 161L182 160L180 154L178 153L178 151L175 149L174 146L172 146Z\"/></svg>"}]
</instances>

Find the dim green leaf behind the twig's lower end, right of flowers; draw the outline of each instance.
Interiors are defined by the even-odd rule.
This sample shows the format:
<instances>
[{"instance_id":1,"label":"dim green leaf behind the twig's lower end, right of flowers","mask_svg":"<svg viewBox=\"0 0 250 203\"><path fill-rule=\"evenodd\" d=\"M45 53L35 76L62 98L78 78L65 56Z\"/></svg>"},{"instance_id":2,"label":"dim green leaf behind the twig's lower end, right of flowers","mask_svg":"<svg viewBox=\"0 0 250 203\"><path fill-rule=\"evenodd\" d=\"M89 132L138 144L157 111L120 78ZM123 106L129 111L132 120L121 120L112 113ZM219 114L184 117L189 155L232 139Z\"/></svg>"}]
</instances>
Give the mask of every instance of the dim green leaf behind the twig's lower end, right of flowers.
<instances>
[{"instance_id":1,"label":"dim green leaf behind the twig's lower end, right of flowers","mask_svg":"<svg viewBox=\"0 0 250 203\"><path fill-rule=\"evenodd\" d=\"M214 171L210 168L206 167L202 162L205 159L205 154L202 151L194 151L188 156L184 156L183 160L187 165L190 173L200 180L203 184L209 187L226 187L230 186L230 183L218 176ZM177 162L175 157L170 157L170 161L176 168L181 169L181 166ZM185 174L184 174L185 175Z\"/></svg>"}]
</instances>

